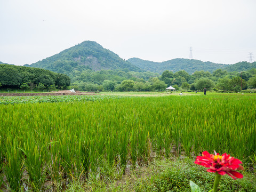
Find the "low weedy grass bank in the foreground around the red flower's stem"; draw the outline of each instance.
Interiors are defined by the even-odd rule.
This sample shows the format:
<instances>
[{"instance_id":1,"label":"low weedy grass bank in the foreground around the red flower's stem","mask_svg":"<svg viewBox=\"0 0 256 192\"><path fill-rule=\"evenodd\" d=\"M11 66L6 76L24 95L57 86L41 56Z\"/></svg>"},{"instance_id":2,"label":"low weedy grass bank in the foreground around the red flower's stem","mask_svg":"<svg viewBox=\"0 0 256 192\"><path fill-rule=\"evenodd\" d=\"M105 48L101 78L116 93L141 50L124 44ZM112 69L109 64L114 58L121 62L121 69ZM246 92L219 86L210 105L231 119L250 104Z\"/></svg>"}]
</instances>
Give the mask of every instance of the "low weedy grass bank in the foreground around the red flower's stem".
<instances>
[{"instance_id":1,"label":"low weedy grass bank in the foreground around the red flower's stem","mask_svg":"<svg viewBox=\"0 0 256 192\"><path fill-rule=\"evenodd\" d=\"M107 169L105 167L105 169ZM233 180L221 177L220 191L256 191L255 173L244 171L244 178ZM137 167L125 175L108 174L105 179L93 178L88 182L74 181L66 191L191 191L189 180L203 191L213 188L215 174L206 172L191 159L174 161L156 160L146 167Z\"/></svg>"}]
</instances>

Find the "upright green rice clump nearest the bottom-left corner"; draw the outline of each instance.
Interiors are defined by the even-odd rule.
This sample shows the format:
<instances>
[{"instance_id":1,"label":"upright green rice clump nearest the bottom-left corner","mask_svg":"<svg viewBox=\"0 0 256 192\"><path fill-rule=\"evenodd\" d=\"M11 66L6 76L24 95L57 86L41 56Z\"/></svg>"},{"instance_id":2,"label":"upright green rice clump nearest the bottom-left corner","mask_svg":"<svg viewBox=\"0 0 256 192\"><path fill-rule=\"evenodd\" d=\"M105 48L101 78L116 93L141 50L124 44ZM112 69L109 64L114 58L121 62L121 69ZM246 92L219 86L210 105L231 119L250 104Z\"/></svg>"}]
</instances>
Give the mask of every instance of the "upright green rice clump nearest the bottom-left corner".
<instances>
[{"instance_id":1,"label":"upright green rice clump nearest the bottom-left corner","mask_svg":"<svg viewBox=\"0 0 256 192\"><path fill-rule=\"evenodd\" d=\"M13 146L7 146L6 157L7 163L4 173L8 181L8 188L12 191L19 191L22 186L24 160L21 156L21 150L17 146L17 141L13 142Z\"/></svg>"}]
</instances>

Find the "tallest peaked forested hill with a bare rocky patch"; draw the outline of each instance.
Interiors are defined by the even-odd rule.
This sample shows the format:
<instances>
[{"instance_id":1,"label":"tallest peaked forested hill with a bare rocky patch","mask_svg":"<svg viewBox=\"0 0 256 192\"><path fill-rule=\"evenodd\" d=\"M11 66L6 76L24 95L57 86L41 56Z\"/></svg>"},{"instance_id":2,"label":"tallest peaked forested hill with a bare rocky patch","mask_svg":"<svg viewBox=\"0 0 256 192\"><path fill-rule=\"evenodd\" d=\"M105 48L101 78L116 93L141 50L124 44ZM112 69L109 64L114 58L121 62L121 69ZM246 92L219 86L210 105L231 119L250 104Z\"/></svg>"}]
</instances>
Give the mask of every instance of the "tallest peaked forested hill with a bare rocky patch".
<instances>
[{"instance_id":1,"label":"tallest peaked forested hill with a bare rocky patch","mask_svg":"<svg viewBox=\"0 0 256 192\"><path fill-rule=\"evenodd\" d=\"M114 52L92 41L85 41L52 57L25 66L43 68L67 75L74 70L83 71L84 69L142 71L130 62L121 59Z\"/></svg>"}]
</instances>

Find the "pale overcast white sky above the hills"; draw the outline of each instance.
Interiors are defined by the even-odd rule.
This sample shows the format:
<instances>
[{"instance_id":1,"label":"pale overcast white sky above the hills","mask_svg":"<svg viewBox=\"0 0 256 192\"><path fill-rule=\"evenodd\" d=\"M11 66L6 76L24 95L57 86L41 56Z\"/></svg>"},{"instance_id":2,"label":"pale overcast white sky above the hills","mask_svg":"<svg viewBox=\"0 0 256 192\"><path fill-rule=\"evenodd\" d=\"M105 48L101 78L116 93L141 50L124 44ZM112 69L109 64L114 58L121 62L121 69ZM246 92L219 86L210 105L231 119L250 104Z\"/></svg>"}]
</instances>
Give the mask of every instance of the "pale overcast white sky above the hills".
<instances>
[{"instance_id":1,"label":"pale overcast white sky above the hills","mask_svg":"<svg viewBox=\"0 0 256 192\"><path fill-rule=\"evenodd\" d=\"M256 58L255 0L0 0L0 61L35 63L83 41L122 59Z\"/></svg>"}]
</instances>

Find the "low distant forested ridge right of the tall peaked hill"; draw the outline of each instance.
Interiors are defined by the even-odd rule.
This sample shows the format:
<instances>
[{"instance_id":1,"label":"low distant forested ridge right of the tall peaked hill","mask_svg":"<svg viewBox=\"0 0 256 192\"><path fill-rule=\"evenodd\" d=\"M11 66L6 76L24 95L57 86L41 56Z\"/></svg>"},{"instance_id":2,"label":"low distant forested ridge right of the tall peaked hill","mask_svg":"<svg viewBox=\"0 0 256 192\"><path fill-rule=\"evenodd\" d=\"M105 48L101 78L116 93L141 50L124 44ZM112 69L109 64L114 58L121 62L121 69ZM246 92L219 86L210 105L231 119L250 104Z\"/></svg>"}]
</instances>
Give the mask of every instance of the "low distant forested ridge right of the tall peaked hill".
<instances>
[{"instance_id":1,"label":"low distant forested ridge right of the tall peaked hill","mask_svg":"<svg viewBox=\"0 0 256 192\"><path fill-rule=\"evenodd\" d=\"M188 74L193 74L195 71L204 70L213 72L217 69L223 69L226 65L217 64L210 61L203 62L195 59L172 59L164 62L146 61L139 58L128 59L133 65L144 69L146 71L152 71L155 73L163 73L165 70L176 71L185 70Z\"/></svg>"}]
</instances>

